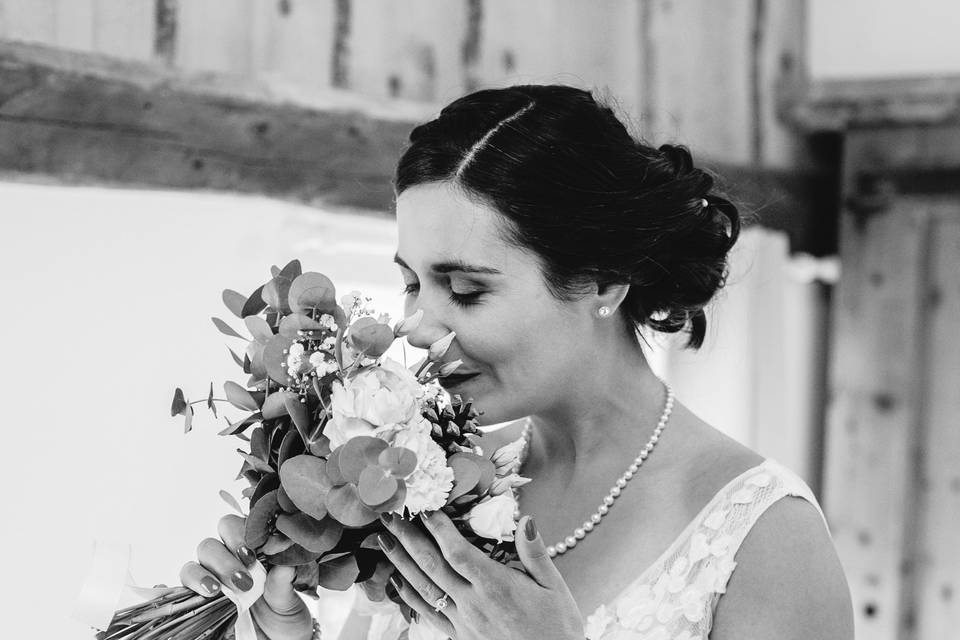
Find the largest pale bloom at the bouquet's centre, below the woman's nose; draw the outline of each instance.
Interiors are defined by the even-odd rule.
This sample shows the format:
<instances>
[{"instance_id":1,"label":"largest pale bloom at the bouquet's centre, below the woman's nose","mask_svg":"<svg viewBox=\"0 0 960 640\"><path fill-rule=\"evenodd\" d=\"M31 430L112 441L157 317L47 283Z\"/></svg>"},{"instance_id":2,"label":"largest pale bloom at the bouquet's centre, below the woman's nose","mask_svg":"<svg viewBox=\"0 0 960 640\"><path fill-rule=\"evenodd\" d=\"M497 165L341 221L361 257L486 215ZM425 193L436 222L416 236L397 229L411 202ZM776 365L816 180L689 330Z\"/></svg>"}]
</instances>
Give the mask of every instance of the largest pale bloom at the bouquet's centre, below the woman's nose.
<instances>
[{"instance_id":1,"label":"largest pale bloom at the bouquet's centre, below the woman's nose","mask_svg":"<svg viewBox=\"0 0 960 640\"><path fill-rule=\"evenodd\" d=\"M331 400L333 417L324 429L330 438L330 447L346 442L348 438L341 439L346 433L373 435L363 433L353 422L355 419L366 422L372 430L405 425L419 417L420 396L420 385L413 373L395 360L384 359L379 366L342 382L335 381Z\"/></svg>"}]
</instances>

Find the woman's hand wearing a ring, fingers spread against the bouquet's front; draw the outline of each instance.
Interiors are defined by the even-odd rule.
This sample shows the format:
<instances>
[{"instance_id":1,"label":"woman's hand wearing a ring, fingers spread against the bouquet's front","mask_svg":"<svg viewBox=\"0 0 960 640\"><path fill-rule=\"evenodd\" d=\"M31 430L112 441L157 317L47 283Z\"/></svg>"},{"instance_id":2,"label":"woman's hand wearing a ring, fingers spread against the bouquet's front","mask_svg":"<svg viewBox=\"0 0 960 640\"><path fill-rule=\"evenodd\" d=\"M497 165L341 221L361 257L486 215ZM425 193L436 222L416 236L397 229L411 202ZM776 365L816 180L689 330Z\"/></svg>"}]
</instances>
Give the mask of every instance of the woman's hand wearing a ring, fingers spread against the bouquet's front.
<instances>
[{"instance_id":1,"label":"woman's hand wearing a ring, fingers spread against the bouquet's front","mask_svg":"<svg viewBox=\"0 0 960 640\"><path fill-rule=\"evenodd\" d=\"M583 639L583 620L533 520L517 527L526 572L487 557L443 512L422 518L427 533L402 518L385 519L380 544L402 574L394 587L420 620L455 640ZM447 606L434 603L447 594Z\"/></svg>"}]
</instances>

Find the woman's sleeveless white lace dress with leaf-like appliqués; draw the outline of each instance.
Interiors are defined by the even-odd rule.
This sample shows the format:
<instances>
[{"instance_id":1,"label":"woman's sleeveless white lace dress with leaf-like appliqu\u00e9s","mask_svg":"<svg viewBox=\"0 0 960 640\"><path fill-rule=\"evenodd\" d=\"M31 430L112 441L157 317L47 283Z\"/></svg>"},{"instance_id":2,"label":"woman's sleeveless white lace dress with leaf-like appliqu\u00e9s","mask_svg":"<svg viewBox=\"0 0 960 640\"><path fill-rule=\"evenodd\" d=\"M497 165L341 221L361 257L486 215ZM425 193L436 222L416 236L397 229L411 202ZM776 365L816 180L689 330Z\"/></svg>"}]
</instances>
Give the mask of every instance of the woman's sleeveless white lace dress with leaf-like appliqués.
<instances>
[{"instance_id":1,"label":"woman's sleeveless white lace dress with leaf-like appliqu\u00e9s","mask_svg":"<svg viewBox=\"0 0 960 640\"><path fill-rule=\"evenodd\" d=\"M731 480L652 565L586 617L587 640L706 640L740 544L785 496L808 500L823 515L806 483L771 459ZM406 624L396 606L370 603L358 592L357 610L373 616L368 640L403 640Z\"/></svg>"}]
</instances>

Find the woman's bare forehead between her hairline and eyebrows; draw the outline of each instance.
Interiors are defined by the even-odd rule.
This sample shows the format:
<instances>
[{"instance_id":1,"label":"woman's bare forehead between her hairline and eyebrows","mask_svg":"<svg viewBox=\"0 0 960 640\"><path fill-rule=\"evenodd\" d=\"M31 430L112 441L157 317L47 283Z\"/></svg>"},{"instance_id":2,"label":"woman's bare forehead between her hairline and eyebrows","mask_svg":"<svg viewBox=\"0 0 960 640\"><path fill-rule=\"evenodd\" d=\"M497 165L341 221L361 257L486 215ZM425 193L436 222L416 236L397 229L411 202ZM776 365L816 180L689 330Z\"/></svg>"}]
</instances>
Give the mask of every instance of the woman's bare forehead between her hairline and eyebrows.
<instances>
[{"instance_id":1,"label":"woman's bare forehead between her hairline and eyebrows","mask_svg":"<svg viewBox=\"0 0 960 640\"><path fill-rule=\"evenodd\" d=\"M504 220L490 207L447 184L410 187L397 197L397 253L411 266L457 258L508 269L521 252L501 235Z\"/></svg>"}]
</instances>

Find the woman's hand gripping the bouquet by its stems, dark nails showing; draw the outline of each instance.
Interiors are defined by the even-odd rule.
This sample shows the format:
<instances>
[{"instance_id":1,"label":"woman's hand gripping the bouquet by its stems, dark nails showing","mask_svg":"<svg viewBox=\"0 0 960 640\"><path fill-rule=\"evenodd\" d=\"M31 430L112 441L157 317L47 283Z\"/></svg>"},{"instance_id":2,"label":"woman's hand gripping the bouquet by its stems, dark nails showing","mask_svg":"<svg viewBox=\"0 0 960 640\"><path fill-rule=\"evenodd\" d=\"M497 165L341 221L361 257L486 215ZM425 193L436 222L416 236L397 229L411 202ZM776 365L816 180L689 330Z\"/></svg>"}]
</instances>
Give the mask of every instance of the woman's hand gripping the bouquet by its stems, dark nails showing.
<instances>
[{"instance_id":1,"label":"woman's hand gripping the bouquet by its stems, dark nails showing","mask_svg":"<svg viewBox=\"0 0 960 640\"><path fill-rule=\"evenodd\" d=\"M253 578L247 567L256 556L244 544L244 523L240 516L220 518L220 540L207 538L197 546L197 562L183 565L180 582L208 598L218 595L224 584L234 591L249 591ZM294 574L294 567L273 567L267 573L263 595L250 609L258 638L309 640L313 635L310 612L293 589Z\"/></svg>"}]
</instances>

